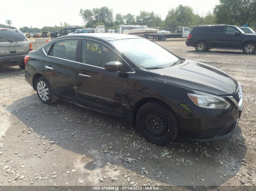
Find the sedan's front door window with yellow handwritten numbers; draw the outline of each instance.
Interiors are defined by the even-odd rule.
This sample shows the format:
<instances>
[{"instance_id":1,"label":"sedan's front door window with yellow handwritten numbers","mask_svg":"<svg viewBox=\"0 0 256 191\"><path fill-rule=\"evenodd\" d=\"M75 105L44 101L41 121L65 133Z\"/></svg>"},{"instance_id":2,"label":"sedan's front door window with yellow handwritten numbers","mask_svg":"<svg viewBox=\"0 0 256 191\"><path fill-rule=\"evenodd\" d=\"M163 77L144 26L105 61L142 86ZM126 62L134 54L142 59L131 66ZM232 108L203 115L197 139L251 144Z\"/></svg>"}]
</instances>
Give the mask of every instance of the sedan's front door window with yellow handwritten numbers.
<instances>
[{"instance_id":1,"label":"sedan's front door window with yellow handwritten numbers","mask_svg":"<svg viewBox=\"0 0 256 191\"><path fill-rule=\"evenodd\" d=\"M83 40L82 41L82 59L81 62L93 66L104 68L108 62L120 62L120 56L99 43Z\"/></svg>"}]
</instances>

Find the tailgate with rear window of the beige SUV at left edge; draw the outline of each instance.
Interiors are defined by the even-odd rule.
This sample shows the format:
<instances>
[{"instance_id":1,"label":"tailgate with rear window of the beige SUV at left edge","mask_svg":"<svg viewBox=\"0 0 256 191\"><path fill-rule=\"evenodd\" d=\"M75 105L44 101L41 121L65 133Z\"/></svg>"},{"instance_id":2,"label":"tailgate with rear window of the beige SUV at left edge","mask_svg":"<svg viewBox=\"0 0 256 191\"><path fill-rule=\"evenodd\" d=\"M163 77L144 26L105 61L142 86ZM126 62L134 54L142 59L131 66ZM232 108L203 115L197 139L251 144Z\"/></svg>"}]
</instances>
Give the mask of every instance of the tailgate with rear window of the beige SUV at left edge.
<instances>
[{"instance_id":1,"label":"tailgate with rear window of the beige SUV at left edge","mask_svg":"<svg viewBox=\"0 0 256 191\"><path fill-rule=\"evenodd\" d=\"M0 29L0 56L28 54L28 39L20 30Z\"/></svg>"}]
</instances>

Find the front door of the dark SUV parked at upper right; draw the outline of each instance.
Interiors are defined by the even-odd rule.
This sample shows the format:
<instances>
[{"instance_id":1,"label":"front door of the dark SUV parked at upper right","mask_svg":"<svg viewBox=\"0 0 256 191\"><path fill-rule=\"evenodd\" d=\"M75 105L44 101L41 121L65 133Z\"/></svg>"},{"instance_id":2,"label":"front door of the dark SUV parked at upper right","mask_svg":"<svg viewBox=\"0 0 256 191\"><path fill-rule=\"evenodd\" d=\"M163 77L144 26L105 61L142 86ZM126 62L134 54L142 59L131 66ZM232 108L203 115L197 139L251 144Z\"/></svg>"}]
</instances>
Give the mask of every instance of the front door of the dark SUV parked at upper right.
<instances>
[{"instance_id":1,"label":"front door of the dark SUV parked at upper right","mask_svg":"<svg viewBox=\"0 0 256 191\"><path fill-rule=\"evenodd\" d=\"M224 37L223 37L223 44L225 48L240 48L243 41L243 35L238 31L240 34L235 36L235 32L238 31L235 27L232 26L225 26L224 27Z\"/></svg>"}]
</instances>

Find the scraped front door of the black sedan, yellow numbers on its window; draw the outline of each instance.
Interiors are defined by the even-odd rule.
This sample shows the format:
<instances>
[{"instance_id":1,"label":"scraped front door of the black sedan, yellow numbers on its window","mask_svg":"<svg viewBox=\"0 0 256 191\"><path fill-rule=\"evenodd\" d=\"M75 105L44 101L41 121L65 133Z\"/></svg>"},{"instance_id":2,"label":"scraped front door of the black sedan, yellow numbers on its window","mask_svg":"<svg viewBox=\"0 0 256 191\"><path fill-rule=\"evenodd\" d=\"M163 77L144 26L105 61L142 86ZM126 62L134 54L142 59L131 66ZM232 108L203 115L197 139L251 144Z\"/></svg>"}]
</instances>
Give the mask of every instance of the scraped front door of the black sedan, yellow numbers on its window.
<instances>
[{"instance_id":1,"label":"scraped front door of the black sedan, yellow numbers on its window","mask_svg":"<svg viewBox=\"0 0 256 191\"><path fill-rule=\"evenodd\" d=\"M81 103L126 116L130 72L107 72L107 62L129 66L111 48L98 41L82 40L81 64L77 64L78 99Z\"/></svg>"}]
</instances>

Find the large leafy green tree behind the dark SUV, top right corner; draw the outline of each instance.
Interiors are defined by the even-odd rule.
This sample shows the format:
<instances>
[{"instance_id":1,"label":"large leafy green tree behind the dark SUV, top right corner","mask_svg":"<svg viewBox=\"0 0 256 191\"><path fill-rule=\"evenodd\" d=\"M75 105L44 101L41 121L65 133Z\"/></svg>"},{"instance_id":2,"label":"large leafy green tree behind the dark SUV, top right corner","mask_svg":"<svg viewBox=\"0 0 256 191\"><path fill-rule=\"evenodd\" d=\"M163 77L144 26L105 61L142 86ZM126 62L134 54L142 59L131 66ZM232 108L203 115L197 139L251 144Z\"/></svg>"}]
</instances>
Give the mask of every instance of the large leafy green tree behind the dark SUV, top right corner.
<instances>
[{"instance_id":1,"label":"large leafy green tree behind the dark SUV, top right corner","mask_svg":"<svg viewBox=\"0 0 256 191\"><path fill-rule=\"evenodd\" d=\"M218 24L255 24L256 0L219 0L214 14Z\"/></svg>"}]
</instances>

